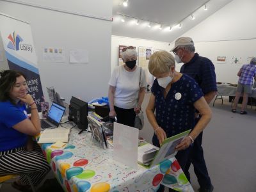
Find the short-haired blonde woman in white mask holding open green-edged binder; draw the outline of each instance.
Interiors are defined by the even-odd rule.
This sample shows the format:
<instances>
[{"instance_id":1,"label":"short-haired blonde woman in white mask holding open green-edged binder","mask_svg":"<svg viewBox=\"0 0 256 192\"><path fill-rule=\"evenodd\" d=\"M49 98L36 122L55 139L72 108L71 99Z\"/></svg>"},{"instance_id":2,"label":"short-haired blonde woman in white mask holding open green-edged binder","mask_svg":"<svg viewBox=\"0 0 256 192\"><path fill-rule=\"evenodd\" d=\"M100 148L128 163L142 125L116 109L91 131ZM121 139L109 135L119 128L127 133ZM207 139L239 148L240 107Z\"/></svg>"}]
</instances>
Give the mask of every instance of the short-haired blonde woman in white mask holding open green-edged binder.
<instances>
[{"instance_id":1,"label":"short-haired blonde woman in white mask holding open green-edged binder","mask_svg":"<svg viewBox=\"0 0 256 192\"><path fill-rule=\"evenodd\" d=\"M170 52L154 52L148 70L156 77L146 109L155 131L153 145L159 147L164 139L192 130L176 147L179 152L175 157L184 170L191 144L211 120L211 109L195 80L175 70L175 60ZM195 109L202 115L196 126ZM163 186L158 191L163 191Z\"/></svg>"}]
</instances>

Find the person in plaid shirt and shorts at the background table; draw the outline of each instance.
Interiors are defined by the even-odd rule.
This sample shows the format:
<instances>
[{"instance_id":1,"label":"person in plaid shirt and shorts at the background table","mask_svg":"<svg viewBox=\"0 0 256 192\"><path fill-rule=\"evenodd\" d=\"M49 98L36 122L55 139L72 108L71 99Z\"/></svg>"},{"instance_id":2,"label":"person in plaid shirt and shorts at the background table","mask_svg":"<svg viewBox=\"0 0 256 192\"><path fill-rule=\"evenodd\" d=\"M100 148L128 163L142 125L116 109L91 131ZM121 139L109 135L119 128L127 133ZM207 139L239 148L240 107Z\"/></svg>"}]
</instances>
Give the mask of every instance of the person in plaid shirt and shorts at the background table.
<instances>
[{"instance_id":1,"label":"person in plaid shirt and shorts at the background table","mask_svg":"<svg viewBox=\"0 0 256 192\"><path fill-rule=\"evenodd\" d=\"M248 102L248 94L252 93L253 77L256 81L256 58L252 58L250 64L243 65L237 73L239 76L238 85L236 89L236 97L234 99L234 105L232 112L236 113L237 103L243 93L243 103L240 111L241 115L247 114L245 111Z\"/></svg>"}]
</instances>

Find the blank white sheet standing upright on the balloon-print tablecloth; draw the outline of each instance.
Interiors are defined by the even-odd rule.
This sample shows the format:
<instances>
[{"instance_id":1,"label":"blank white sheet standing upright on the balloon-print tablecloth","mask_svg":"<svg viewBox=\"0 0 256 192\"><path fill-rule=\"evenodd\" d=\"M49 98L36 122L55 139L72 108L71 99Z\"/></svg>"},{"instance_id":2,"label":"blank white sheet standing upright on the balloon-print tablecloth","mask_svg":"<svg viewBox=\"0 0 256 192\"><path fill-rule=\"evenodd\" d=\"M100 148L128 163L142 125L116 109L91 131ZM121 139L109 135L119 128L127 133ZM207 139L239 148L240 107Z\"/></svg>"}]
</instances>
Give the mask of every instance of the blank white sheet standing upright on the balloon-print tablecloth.
<instances>
[{"instance_id":1,"label":"blank white sheet standing upright on the balloon-print tablecloth","mask_svg":"<svg viewBox=\"0 0 256 192\"><path fill-rule=\"evenodd\" d=\"M138 168L139 130L114 122L114 156L113 159L131 168Z\"/></svg>"}]
</instances>

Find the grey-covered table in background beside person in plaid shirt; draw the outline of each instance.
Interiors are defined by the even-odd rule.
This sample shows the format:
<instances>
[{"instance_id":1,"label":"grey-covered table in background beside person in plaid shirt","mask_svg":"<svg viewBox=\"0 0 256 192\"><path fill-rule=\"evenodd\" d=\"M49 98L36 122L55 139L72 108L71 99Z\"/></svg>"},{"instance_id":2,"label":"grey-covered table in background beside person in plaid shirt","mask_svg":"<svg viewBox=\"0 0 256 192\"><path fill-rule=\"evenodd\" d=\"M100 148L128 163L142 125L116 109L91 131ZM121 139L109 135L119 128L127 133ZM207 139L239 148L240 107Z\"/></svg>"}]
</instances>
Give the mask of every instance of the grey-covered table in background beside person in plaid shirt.
<instances>
[{"instance_id":1,"label":"grey-covered table in background beside person in plaid shirt","mask_svg":"<svg viewBox=\"0 0 256 192\"><path fill-rule=\"evenodd\" d=\"M236 96L236 88L237 88L236 86L230 86L230 83L217 84L218 93L212 105L214 106L214 103L217 99L221 99L221 104L223 104L222 96ZM248 97L256 98L256 88L252 89L252 93L248 94Z\"/></svg>"}]
</instances>

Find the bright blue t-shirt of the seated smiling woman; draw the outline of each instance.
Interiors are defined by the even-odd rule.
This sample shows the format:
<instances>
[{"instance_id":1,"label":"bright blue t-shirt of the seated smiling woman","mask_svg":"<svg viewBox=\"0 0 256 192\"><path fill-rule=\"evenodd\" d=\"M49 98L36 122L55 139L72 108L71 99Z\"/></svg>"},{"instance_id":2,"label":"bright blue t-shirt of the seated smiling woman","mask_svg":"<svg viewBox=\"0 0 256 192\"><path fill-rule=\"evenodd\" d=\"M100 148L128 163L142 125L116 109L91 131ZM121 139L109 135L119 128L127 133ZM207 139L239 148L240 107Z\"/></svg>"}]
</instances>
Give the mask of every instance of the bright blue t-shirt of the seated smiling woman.
<instances>
[{"instance_id":1,"label":"bright blue t-shirt of the seated smiling woman","mask_svg":"<svg viewBox=\"0 0 256 192\"><path fill-rule=\"evenodd\" d=\"M12 127L26 118L25 105L13 105L10 101L0 102L0 151L26 145L28 136Z\"/></svg>"}]
</instances>

